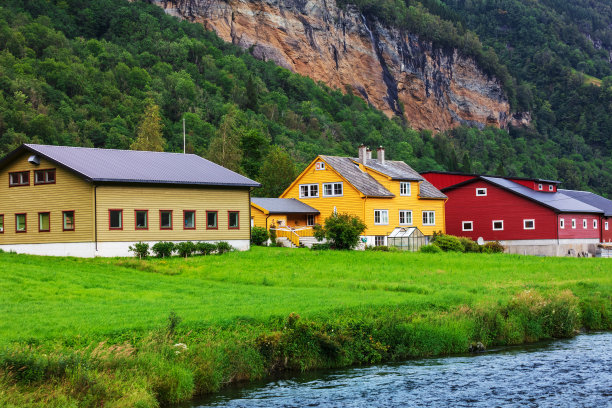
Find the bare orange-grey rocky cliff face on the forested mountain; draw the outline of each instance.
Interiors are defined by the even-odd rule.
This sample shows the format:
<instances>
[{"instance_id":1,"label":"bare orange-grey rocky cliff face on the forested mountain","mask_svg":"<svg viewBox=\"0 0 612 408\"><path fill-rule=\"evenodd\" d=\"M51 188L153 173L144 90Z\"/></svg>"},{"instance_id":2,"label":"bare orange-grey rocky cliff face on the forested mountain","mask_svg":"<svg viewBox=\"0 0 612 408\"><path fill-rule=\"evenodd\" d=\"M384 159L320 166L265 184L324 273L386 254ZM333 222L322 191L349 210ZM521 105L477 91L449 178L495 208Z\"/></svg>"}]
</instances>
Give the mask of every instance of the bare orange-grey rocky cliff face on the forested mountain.
<instances>
[{"instance_id":1,"label":"bare orange-grey rocky cliff face on the forested mountain","mask_svg":"<svg viewBox=\"0 0 612 408\"><path fill-rule=\"evenodd\" d=\"M331 87L348 85L387 115L417 129L467 124L506 127L509 104L494 78L456 50L433 49L415 35L368 20L334 0L149 0L201 22L228 42L252 49Z\"/></svg>"}]
</instances>

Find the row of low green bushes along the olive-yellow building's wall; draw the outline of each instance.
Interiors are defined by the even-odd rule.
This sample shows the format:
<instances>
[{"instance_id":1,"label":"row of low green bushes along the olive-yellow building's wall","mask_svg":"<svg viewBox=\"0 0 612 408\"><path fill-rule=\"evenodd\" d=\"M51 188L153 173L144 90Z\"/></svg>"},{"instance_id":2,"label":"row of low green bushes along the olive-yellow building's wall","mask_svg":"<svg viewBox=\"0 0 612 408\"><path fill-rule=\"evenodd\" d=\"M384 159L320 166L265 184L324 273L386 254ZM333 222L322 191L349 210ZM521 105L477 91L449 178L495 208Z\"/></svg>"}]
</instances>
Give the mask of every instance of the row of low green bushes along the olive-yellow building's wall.
<instances>
[{"instance_id":1,"label":"row of low green bushes along the olive-yellow building's wall","mask_svg":"<svg viewBox=\"0 0 612 408\"><path fill-rule=\"evenodd\" d=\"M150 250L153 251L157 258L167 258L177 253L179 256L187 258L193 254L210 255L212 253L224 254L234 248L227 242L221 241L216 244L210 242L191 242L183 241L174 243L170 241L160 241L152 247L146 242L137 242L130 246L129 250L134 253L134 256L142 259L150 255Z\"/></svg>"}]
</instances>

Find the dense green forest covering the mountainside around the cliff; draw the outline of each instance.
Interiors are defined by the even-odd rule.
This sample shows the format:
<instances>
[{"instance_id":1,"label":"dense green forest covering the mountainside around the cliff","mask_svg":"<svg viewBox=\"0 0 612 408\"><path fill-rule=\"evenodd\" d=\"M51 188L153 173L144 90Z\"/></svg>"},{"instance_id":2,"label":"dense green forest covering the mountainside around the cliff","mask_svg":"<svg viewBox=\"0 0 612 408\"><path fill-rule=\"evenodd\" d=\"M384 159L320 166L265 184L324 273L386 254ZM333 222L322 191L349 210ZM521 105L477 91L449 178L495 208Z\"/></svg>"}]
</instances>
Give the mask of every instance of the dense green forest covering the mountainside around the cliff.
<instances>
[{"instance_id":1,"label":"dense green forest covering the mountainside around the cliff","mask_svg":"<svg viewBox=\"0 0 612 408\"><path fill-rule=\"evenodd\" d=\"M514 109L534 114L527 129L461 127L432 135L144 2L8 0L0 8L0 153L24 142L136 148L147 129L161 133L157 148L182 151L184 119L188 152L262 181L259 195L279 194L317 154L355 155L360 143L385 145L390 158L417 170L554 178L611 195L612 77L602 63L610 29L592 23L566 33L564 16L575 11L542 5L561 30L544 17L535 24L546 51L532 26L506 27L487 14L506 2L521 3L359 5L384 20L385 10L401 4L406 14L394 13L392 23L436 46L459 47L502 79ZM472 16L478 7L482 16ZM516 13L530 16L528 9ZM442 23L454 29L429 32ZM563 47L576 51L568 56Z\"/></svg>"}]
</instances>

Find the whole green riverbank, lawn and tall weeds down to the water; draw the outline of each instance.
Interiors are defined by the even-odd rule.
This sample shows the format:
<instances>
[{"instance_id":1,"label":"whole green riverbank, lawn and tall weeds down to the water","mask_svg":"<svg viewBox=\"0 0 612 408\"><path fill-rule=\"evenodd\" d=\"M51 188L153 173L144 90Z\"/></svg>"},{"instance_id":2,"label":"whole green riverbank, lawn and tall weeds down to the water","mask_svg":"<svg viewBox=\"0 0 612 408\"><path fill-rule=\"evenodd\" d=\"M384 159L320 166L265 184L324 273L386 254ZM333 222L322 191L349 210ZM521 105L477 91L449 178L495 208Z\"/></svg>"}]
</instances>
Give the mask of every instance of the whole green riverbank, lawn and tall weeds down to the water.
<instances>
[{"instance_id":1,"label":"whole green riverbank, lawn and tall weeds down to the water","mask_svg":"<svg viewBox=\"0 0 612 408\"><path fill-rule=\"evenodd\" d=\"M0 254L0 405L153 407L287 370L611 330L610 265L283 248Z\"/></svg>"}]
</instances>

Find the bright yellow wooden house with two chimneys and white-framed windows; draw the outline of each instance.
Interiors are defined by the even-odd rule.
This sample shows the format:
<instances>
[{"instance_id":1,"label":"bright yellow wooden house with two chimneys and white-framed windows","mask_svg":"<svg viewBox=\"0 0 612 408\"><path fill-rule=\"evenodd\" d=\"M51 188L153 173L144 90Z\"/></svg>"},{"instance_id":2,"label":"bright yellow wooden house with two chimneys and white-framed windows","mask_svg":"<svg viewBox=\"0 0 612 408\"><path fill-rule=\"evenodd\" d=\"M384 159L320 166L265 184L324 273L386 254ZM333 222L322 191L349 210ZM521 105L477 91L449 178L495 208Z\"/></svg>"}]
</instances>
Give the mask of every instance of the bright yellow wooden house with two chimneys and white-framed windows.
<instances>
[{"instance_id":1,"label":"bright yellow wooden house with two chimneys and white-framed windows","mask_svg":"<svg viewBox=\"0 0 612 408\"><path fill-rule=\"evenodd\" d=\"M385 160L383 148L377 153L372 159L360 146L358 158L318 156L280 198L316 208L315 223L334 212L360 217L367 225L367 245L387 245L396 228L416 227L425 235L445 232L447 197L406 163Z\"/></svg>"}]
</instances>

